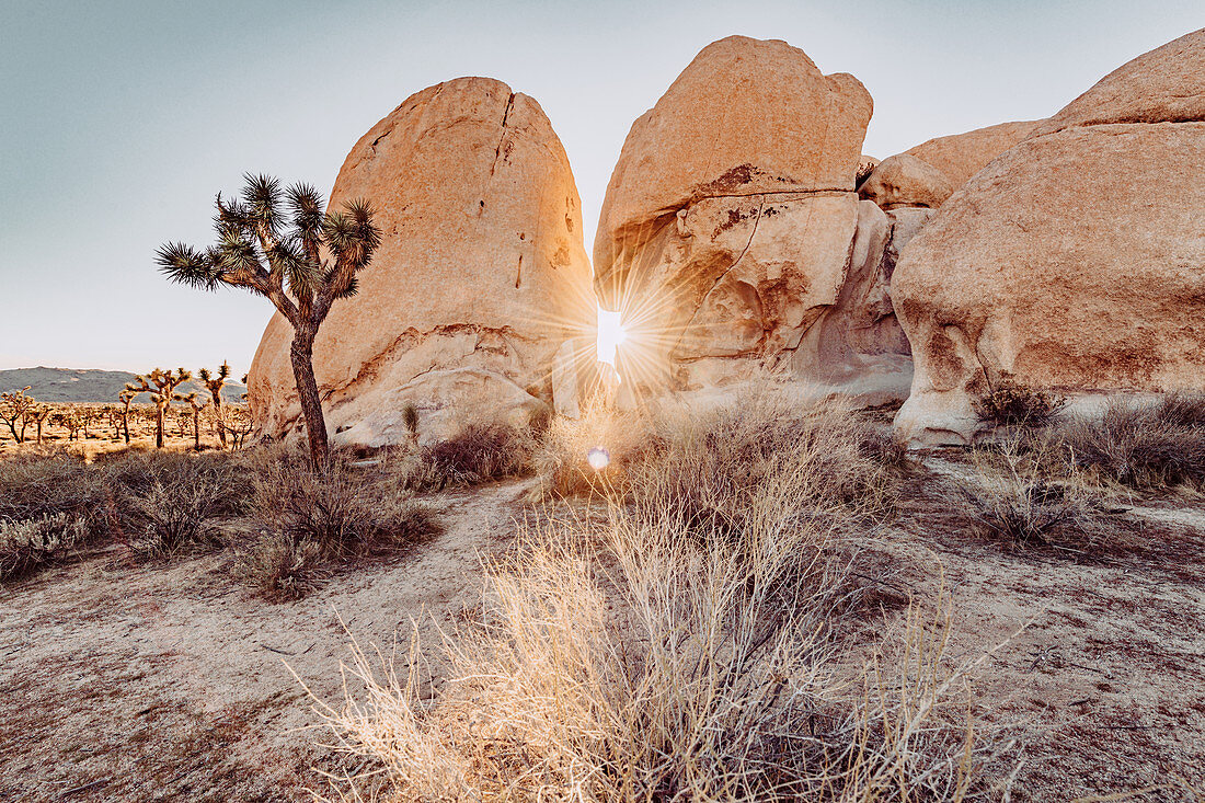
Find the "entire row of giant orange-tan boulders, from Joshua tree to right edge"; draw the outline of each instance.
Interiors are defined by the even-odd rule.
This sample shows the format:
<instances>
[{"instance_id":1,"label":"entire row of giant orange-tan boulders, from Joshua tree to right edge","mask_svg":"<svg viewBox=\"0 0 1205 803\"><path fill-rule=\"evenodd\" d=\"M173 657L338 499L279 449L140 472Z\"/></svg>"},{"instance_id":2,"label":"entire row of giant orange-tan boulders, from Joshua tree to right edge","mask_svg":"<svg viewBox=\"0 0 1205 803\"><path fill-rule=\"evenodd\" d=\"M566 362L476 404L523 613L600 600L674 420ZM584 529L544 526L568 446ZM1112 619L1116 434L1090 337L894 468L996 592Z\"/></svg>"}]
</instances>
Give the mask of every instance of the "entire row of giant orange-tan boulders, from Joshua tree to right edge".
<instances>
[{"instance_id":1,"label":"entire row of giant orange-tan boulders, from Joshua tree to right edge","mask_svg":"<svg viewBox=\"0 0 1205 803\"><path fill-rule=\"evenodd\" d=\"M782 41L709 45L623 143L594 241L539 104L490 78L417 93L352 148L331 204L383 242L315 345L335 442L446 438L754 379L904 403L971 442L1004 382L1205 389L1205 30L1053 117L862 153L872 102ZM595 362L598 309L628 329ZM288 324L249 376L295 434ZM616 386L616 377L622 383ZM418 432L406 428L418 412Z\"/></svg>"}]
</instances>

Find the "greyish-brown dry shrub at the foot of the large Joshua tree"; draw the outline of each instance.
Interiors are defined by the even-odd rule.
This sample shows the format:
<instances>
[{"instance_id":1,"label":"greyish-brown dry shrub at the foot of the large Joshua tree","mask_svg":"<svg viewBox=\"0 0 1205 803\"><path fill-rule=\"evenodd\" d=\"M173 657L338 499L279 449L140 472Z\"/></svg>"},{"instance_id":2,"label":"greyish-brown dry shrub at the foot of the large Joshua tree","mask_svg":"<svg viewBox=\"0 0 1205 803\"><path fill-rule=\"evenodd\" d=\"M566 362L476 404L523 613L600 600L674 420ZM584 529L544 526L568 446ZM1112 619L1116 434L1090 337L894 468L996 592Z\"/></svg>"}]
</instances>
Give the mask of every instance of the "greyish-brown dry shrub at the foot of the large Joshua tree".
<instances>
[{"instance_id":1,"label":"greyish-brown dry shrub at the foot of the large Joshua tree","mask_svg":"<svg viewBox=\"0 0 1205 803\"><path fill-rule=\"evenodd\" d=\"M398 553L439 532L398 477L358 470L346 455L315 473L304 456L277 452L252 486L257 537L239 550L236 573L269 598L300 598L334 565Z\"/></svg>"}]
</instances>

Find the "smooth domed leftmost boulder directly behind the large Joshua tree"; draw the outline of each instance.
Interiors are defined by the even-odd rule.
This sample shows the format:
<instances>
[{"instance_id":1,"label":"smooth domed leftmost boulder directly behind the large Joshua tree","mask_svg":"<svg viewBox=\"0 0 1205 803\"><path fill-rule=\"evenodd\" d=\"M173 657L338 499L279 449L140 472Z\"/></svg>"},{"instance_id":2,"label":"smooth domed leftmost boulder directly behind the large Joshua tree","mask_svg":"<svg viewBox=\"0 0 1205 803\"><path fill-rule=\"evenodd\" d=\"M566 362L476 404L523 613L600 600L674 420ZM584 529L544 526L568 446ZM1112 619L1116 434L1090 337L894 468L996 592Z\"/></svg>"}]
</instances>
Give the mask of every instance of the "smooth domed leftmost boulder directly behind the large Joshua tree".
<instances>
[{"instance_id":1,"label":"smooth domed leftmost boulder directly behind the large Joshua tree","mask_svg":"<svg viewBox=\"0 0 1205 803\"><path fill-rule=\"evenodd\" d=\"M553 357L594 323L581 203L540 105L492 78L424 89L352 148L333 207L365 198L383 242L315 344L336 442L423 439L470 421L523 423L553 403ZM288 323L255 353L251 404L282 436L300 415Z\"/></svg>"}]
</instances>

